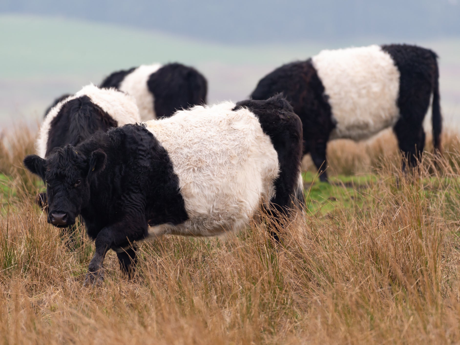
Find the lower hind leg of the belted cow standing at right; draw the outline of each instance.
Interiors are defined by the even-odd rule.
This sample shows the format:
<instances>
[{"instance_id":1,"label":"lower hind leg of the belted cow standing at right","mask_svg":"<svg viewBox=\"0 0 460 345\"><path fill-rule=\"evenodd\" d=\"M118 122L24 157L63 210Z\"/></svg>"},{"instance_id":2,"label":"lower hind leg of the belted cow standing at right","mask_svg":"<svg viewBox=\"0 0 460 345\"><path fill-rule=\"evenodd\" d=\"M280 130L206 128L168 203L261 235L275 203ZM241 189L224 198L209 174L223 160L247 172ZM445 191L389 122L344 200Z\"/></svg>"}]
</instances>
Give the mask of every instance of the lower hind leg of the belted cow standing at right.
<instances>
[{"instance_id":1,"label":"lower hind leg of the belted cow standing at right","mask_svg":"<svg viewBox=\"0 0 460 345\"><path fill-rule=\"evenodd\" d=\"M403 152L403 172L406 161L410 168L416 167L425 148L425 131L421 123L410 123L403 119L397 121L394 132L398 139L399 150Z\"/></svg>"}]
</instances>

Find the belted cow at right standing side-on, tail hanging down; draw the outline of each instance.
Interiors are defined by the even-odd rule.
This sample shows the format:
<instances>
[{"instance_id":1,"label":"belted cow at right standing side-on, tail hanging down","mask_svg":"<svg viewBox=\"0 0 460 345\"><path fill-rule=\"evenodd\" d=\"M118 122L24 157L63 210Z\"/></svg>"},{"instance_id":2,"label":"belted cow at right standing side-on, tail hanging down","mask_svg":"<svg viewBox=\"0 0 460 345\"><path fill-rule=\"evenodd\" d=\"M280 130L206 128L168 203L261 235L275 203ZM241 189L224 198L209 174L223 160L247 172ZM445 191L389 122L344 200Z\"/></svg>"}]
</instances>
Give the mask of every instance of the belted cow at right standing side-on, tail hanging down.
<instances>
[{"instance_id":1,"label":"belted cow at right standing side-on, tail hanging down","mask_svg":"<svg viewBox=\"0 0 460 345\"><path fill-rule=\"evenodd\" d=\"M259 81L252 99L282 93L303 124L304 155L324 171L331 139L362 140L393 127L399 149L415 166L425 146L423 120L432 101L435 150L442 126L437 55L409 45L325 50L288 63ZM405 165L403 163L403 170Z\"/></svg>"}]
</instances>

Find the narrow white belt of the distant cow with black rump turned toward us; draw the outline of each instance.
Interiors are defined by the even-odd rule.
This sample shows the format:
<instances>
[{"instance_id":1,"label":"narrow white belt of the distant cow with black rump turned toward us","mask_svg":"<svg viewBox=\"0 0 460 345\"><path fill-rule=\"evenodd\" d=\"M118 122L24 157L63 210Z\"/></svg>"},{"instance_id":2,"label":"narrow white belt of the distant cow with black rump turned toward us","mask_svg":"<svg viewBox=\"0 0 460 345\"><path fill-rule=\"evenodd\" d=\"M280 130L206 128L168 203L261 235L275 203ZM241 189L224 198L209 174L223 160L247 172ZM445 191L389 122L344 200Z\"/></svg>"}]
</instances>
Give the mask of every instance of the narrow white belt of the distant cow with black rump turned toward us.
<instances>
[{"instance_id":1,"label":"narrow white belt of the distant cow with black rump turned toward us","mask_svg":"<svg viewBox=\"0 0 460 345\"><path fill-rule=\"evenodd\" d=\"M147 86L152 73L161 68L160 63L141 65L128 74L120 84L121 91L129 93L136 99L142 121L155 120L154 97Z\"/></svg>"}]
</instances>

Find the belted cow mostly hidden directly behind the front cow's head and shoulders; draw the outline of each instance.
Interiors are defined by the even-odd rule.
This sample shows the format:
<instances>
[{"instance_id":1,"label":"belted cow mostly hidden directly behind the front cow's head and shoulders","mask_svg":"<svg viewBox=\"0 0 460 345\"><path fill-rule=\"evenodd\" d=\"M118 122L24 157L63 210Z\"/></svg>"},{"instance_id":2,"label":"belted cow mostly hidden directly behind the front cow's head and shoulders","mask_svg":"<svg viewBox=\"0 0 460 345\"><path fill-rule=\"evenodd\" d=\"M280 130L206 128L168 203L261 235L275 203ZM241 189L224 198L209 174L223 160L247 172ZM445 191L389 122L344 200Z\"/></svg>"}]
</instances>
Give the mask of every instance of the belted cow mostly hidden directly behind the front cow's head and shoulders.
<instances>
[{"instance_id":1,"label":"belted cow mostly hidden directly behind the front cow's head and shoulders","mask_svg":"<svg viewBox=\"0 0 460 345\"><path fill-rule=\"evenodd\" d=\"M64 96L46 112L40 127L37 154L42 158L57 147L80 144L98 130L140 122L134 99L115 89L87 85L73 96ZM45 206L46 193L40 193L38 201Z\"/></svg>"}]
</instances>

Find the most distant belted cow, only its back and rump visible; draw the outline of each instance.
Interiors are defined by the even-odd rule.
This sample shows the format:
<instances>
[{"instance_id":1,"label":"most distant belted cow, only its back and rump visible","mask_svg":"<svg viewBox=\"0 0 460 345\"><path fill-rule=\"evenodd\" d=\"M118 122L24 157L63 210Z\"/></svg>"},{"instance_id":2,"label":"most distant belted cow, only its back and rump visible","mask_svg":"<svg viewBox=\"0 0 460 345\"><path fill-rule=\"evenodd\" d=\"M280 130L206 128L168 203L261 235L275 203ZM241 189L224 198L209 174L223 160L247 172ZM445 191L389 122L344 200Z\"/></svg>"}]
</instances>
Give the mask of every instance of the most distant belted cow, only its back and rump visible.
<instances>
[{"instance_id":1,"label":"most distant belted cow, only its back and rump visible","mask_svg":"<svg viewBox=\"0 0 460 345\"><path fill-rule=\"evenodd\" d=\"M141 65L114 72L101 87L115 87L136 98L143 121L169 117L178 109L206 104L207 81L180 63Z\"/></svg>"}]
</instances>

